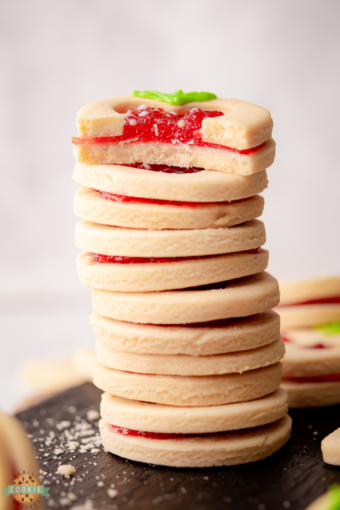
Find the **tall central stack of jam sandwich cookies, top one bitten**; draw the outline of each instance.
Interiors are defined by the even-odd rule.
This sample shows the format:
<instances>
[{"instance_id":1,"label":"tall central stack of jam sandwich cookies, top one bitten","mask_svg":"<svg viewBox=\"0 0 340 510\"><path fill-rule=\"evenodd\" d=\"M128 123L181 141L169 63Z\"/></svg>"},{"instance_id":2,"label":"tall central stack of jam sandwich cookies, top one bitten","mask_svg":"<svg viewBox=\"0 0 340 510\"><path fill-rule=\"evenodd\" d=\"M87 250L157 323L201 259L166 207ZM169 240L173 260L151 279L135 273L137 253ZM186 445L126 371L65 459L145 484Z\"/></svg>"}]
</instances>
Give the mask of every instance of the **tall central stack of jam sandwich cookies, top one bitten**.
<instances>
[{"instance_id":1,"label":"tall central stack of jam sandwich cookies, top one bitten","mask_svg":"<svg viewBox=\"0 0 340 510\"><path fill-rule=\"evenodd\" d=\"M73 139L103 445L167 466L259 460L291 430L278 284L255 219L270 113L208 93L134 94L82 108Z\"/></svg>"}]
</instances>

